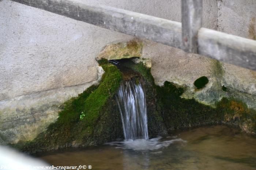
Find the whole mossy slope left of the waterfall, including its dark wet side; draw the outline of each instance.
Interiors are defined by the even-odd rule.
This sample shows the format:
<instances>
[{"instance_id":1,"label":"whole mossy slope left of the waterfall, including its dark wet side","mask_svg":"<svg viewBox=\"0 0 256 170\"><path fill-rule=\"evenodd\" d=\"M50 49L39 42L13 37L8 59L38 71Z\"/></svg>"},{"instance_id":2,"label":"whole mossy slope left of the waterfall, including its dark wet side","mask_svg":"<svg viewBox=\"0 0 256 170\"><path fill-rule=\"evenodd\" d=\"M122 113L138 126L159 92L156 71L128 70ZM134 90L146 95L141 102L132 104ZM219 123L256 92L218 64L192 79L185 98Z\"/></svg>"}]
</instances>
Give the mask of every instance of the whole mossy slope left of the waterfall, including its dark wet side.
<instances>
[{"instance_id":1,"label":"whole mossy slope left of the waterfall, including its dark wet side","mask_svg":"<svg viewBox=\"0 0 256 170\"><path fill-rule=\"evenodd\" d=\"M105 73L99 86L87 88L78 97L65 102L56 122L33 141L18 143L22 151L36 152L67 146L89 146L122 137L121 118L113 100L121 72L112 64L103 63ZM84 118L80 119L80 115Z\"/></svg>"}]
</instances>

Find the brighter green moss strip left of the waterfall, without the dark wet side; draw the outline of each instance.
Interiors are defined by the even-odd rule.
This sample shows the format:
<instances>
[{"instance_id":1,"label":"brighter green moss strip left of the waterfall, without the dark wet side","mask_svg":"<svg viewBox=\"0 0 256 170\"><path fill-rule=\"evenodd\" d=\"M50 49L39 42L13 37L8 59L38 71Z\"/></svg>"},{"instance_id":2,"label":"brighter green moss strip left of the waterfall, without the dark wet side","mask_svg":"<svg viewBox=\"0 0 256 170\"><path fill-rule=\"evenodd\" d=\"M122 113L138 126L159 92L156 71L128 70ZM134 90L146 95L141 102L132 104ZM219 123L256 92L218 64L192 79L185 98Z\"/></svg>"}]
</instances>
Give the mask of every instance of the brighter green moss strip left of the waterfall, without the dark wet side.
<instances>
[{"instance_id":1,"label":"brighter green moss strip left of the waterfall, without the dark wet side","mask_svg":"<svg viewBox=\"0 0 256 170\"><path fill-rule=\"evenodd\" d=\"M56 122L50 124L48 129L33 141L18 143L16 147L23 151L35 152L71 145L90 145L90 142L95 142L97 139L93 138L96 133L94 127L122 80L121 72L116 66L102 64L102 68L105 73L99 86L91 86L78 97L65 102ZM82 112L85 116L80 120Z\"/></svg>"}]
</instances>

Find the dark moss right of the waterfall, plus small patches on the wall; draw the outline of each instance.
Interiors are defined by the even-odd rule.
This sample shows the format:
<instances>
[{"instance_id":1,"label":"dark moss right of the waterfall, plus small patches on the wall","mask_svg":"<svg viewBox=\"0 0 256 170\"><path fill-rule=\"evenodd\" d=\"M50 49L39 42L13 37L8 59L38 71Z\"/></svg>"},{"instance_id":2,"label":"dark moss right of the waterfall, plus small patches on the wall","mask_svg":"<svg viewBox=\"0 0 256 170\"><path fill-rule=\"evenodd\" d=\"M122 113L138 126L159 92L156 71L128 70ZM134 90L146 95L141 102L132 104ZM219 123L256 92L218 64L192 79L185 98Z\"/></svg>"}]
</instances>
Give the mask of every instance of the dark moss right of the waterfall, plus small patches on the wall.
<instances>
[{"instance_id":1,"label":"dark moss right of the waterfall, plus small patches on the wall","mask_svg":"<svg viewBox=\"0 0 256 170\"><path fill-rule=\"evenodd\" d=\"M240 126L242 130L249 133L256 133L255 111L248 109L246 104L236 102L235 99L223 98L216 104L216 108L212 108L195 101L195 99L181 98L185 87L179 87L171 82L165 82L162 87L156 86L150 68L144 66L142 62L135 64L130 59L119 61L122 66L139 72L146 81L149 129L152 128L151 126L157 126L162 122L164 122L167 130L225 123ZM216 75L223 75L220 62L214 62L214 68ZM199 78L199 80L202 80L199 82L201 87L208 82L206 77ZM152 133L154 134L154 132Z\"/></svg>"}]
</instances>

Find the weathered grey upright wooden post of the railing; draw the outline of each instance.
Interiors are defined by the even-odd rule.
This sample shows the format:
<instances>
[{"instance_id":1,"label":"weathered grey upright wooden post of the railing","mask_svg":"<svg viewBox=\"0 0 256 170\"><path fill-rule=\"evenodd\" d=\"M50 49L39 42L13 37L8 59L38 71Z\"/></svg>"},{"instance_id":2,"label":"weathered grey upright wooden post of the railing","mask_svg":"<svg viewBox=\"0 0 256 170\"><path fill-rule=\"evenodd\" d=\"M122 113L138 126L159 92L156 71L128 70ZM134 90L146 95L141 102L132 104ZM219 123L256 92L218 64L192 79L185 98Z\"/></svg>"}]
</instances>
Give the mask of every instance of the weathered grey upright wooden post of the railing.
<instances>
[{"instance_id":1,"label":"weathered grey upright wooden post of the railing","mask_svg":"<svg viewBox=\"0 0 256 170\"><path fill-rule=\"evenodd\" d=\"M181 0L182 44L186 52L197 53L197 32L202 27L202 0Z\"/></svg>"}]
</instances>

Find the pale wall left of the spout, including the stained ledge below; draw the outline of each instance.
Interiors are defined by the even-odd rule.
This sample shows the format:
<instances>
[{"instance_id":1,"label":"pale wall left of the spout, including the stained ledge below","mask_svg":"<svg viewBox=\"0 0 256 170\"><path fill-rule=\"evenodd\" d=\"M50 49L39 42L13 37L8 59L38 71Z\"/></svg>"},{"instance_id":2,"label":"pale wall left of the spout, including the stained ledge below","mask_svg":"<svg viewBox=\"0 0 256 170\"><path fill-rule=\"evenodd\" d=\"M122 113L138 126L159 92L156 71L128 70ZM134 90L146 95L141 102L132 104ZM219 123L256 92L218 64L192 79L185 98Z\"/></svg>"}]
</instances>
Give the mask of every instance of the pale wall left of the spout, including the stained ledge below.
<instances>
[{"instance_id":1,"label":"pale wall left of the spout, including the stained ledge below","mask_svg":"<svg viewBox=\"0 0 256 170\"><path fill-rule=\"evenodd\" d=\"M0 8L0 143L44 131L65 100L98 83L101 49L133 38L10 0Z\"/></svg>"}]
</instances>

